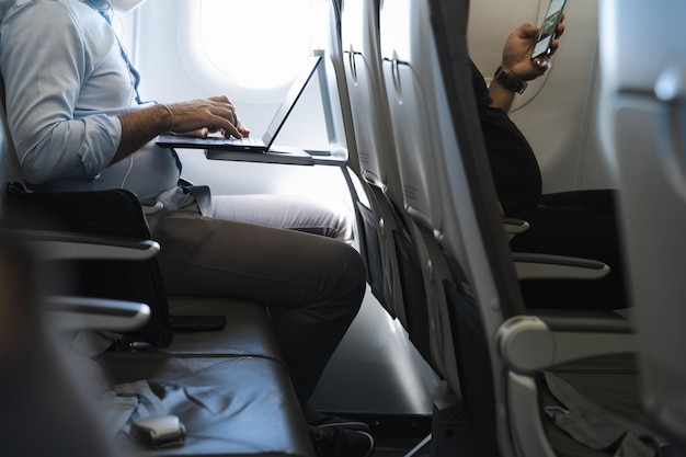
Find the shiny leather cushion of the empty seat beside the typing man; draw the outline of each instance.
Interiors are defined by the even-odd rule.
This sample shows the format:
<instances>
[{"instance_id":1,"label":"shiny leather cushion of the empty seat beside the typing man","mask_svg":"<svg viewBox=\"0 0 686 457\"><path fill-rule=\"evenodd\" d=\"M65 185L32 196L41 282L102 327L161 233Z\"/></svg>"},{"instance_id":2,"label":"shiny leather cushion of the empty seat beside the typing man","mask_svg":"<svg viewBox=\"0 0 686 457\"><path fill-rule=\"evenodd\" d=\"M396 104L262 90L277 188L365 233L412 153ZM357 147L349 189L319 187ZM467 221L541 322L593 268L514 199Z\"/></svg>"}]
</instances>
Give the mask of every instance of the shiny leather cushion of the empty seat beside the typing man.
<instances>
[{"instance_id":1,"label":"shiny leather cushion of the empty seat beside the typing man","mask_svg":"<svg viewBox=\"0 0 686 457\"><path fill-rule=\"evenodd\" d=\"M288 373L276 361L111 352L99 363L113 382L147 379L186 427L183 446L144 455L312 455Z\"/></svg>"}]
</instances>

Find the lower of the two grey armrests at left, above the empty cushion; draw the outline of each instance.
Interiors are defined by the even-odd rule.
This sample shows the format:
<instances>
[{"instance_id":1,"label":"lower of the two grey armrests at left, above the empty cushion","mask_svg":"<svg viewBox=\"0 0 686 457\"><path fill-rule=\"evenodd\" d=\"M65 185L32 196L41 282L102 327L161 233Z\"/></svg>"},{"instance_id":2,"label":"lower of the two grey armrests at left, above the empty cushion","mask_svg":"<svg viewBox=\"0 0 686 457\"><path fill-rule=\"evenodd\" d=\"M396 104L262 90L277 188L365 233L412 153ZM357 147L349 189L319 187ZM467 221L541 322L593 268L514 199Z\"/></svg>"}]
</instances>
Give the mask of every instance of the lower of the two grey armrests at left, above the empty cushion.
<instances>
[{"instance_id":1,"label":"lower of the two grey armrests at left, above the empty cushion","mask_svg":"<svg viewBox=\"0 0 686 457\"><path fill-rule=\"evenodd\" d=\"M150 307L137 301L71 296L49 296L43 301L50 325L58 330L129 332L150 318Z\"/></svg>"}]
</instances>

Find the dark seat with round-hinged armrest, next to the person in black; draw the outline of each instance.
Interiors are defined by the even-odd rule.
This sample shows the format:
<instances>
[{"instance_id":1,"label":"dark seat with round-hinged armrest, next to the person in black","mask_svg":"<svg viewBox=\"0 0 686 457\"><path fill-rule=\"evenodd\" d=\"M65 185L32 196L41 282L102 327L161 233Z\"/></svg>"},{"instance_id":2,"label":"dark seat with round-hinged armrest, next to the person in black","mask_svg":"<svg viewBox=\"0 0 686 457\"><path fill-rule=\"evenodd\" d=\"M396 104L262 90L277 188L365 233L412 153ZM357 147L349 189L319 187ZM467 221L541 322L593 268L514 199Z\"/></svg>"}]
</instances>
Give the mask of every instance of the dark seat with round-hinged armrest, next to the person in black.
<instances>
[{"instance_id":1,"label":"dark seat with round-hinged armrest, next to the person in black","mask_svg":"<svg viewBox=\"0 0 686 457\"><path fill-rule=\"evenodd\" d=\"M467 448L467 455L523 457L668 455L638 401L631 322L604 310L525 308L476 114L465 4L422 3L405 14L421 19L426 39L412 35L407 43L433 55L433 68L396 49L389 79L410 110L416 108L407 92L413 77L431 106L422 111L427 124L435 121L433 112L447 119L435 124L441 147L424 150L437 184L421 183L433 192L428 199L439 198L441 219L428 212L432 217L424 219L435 251L453 271L444 279L448 299L442 307L453 319L465 422L473 430L456 435L453 454ZM399 14L395 23L405 28Z\"/></svg>"}]
</instances>

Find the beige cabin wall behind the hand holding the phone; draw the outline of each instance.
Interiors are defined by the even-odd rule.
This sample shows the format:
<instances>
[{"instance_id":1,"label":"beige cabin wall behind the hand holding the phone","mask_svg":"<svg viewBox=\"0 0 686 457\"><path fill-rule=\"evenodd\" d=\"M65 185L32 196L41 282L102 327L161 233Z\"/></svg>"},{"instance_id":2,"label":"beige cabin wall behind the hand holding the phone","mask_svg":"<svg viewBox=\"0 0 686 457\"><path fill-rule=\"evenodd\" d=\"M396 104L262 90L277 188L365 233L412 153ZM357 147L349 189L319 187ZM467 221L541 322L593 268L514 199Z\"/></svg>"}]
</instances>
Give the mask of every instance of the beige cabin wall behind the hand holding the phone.
<instances>
[{"instance_id":1,"label":"beige cabin wall behind the hand holding the phone","mask_svg":"<svg viewBox=\"0 0 686 457\"><path fill-rule=\"evenodd\" d=\"M487 81L501 62L507 35L539 25L548 0L471 2L468 39ZM544 192L611 187L597 128L597 0L568 0L567 31L551 69L517 95L511 116L531 144Z\"/></svg>"}]
</instances>

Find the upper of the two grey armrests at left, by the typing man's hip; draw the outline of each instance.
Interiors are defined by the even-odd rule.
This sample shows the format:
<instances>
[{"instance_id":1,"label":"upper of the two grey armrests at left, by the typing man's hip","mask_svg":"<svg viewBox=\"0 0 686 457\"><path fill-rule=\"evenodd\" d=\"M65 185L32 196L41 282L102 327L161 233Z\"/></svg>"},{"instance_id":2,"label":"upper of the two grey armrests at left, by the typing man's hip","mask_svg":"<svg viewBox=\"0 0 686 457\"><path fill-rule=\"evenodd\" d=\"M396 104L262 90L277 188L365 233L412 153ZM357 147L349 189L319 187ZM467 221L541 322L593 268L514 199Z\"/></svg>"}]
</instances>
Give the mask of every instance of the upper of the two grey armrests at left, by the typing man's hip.
<instances>
[{"instance_id":1,"label":"upper of the two grey armrests at left, by the typing man's hip","mask_svg":"<svg viewBox=\"0 0 686 457\"><path fill-rule=\"evenodd\" d=\"M134 260L153 258L160 245L152 240L81 235L50 230L2 230L0 235L28 244L41 260Z\"/></svg>"}]
</instances>

